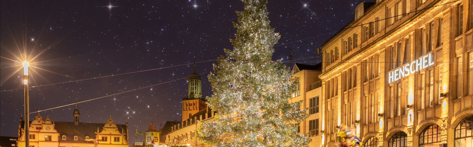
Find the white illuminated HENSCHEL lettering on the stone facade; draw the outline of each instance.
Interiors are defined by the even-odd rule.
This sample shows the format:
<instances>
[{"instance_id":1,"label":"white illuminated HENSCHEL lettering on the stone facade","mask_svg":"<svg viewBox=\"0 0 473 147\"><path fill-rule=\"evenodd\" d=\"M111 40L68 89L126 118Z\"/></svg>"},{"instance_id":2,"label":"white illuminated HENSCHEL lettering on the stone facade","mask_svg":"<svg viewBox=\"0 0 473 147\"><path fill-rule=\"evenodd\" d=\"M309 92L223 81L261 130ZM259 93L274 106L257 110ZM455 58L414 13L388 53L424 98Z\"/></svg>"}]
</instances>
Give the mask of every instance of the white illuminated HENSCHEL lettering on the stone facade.
<instances>
[{"instance_id":1,"label":"white illuminated HENSCHEL lettering on the stone facade","mask_svg":"<svg viewBox=\"0 0 473 147\"><path fill-rule=\"evenodd\" d=\"M415 73L416 71L420 71L421 69L427 68L430 65L434 65L432 53L424 57L420 57L414 62L404 65L401 68L398 68L393 72L389 73L388 83L397 81L402 77L408 76L409 74Z\"/></svg>"}]
</instances>

